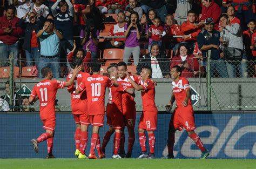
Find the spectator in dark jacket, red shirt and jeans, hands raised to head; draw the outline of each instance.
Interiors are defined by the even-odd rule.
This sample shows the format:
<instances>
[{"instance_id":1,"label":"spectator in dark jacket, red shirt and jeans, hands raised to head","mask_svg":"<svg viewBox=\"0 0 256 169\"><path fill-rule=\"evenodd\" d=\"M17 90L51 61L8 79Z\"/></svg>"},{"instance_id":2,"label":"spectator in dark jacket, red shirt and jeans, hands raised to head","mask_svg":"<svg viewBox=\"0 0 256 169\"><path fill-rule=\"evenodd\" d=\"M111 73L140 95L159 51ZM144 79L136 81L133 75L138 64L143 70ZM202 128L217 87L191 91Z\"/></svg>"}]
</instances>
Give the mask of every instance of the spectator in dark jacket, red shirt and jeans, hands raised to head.
<instances>
[{"instance_id":1,"label":"spectator in dark jacket, red shirt and jeans, hands raised to head","mask_svg":"<svg viewBox=\"0 0 256 169\"><path fill-rule=\"evenodd\" d=\"M26 24L24 43L22 48L26 53L26 65L33 66L34 60L35 65L38 66L40 58L40 40L36 37L36 33L43 28L44 17L40 16L37 21L36 13L26 13L26 15L19 20L19 25L24 24L27 16L29 16L30 22Z\"/></svg>"}]
</instances>

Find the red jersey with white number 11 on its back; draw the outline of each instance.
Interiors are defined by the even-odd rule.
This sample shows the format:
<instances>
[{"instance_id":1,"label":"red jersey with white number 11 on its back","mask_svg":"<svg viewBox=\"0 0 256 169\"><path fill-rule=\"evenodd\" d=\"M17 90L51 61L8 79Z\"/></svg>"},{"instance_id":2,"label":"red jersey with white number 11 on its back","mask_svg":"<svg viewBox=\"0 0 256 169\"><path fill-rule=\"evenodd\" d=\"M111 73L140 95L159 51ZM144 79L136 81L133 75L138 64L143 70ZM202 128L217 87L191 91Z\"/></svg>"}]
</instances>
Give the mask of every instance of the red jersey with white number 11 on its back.
<instances>
[{"instance_id":1,"label":"red jersey with white number 11 on its back","mask_svg":"<svg viewBox=\"0 0 256 169\"><path fill-rule=\"evenodd\" d=\"M30 97L38 96L40 117L42 120L55 118L55 98L58 89L63 89L65 82L59 80L42 80L33 87Z\"/></svg>"}]
</instances>

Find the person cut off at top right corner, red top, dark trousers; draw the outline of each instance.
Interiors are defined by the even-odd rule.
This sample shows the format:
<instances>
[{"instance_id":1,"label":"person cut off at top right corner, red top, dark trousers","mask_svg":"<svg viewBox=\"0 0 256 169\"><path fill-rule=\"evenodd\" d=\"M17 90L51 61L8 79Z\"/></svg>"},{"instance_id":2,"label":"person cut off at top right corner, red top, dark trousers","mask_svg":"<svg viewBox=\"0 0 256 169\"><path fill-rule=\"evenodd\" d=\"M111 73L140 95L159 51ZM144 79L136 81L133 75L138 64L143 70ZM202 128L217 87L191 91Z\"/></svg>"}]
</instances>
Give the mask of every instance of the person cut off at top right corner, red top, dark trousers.
<instances>
[{"instance_id":1,"label":"person cut off at top right corner, red top, dark trousers","mask_svg":"<svg viewBox=\"0 0 256 169\"><path fill-rule=\"evenodd\" d=\"M235 8L235 16L241 21L242 30L246 30L246 24L255 19L255 13L252 12L252 3L250 0L233 0L232 6Z\"/></svg>"}]
</instances>

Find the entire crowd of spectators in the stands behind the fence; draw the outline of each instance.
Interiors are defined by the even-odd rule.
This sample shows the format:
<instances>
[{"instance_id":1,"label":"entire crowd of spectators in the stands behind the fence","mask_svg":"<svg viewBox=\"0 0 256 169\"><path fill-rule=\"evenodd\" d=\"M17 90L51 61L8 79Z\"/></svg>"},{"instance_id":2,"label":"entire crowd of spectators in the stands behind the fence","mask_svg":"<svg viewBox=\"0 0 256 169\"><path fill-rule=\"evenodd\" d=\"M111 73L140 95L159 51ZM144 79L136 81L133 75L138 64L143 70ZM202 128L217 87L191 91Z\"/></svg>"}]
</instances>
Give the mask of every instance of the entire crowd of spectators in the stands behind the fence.
<instances>
[{"instance_id":1,"label":"entire crowd of spectators in the stands behind the fence","mask_svg":"<svg viewBox=\"0 0 256 169\"><path fill-rule=\"evenodd\" d=\"M14 0L1 15L0 67L13 52L15 66L36 67L38 78L44 66L65 77L75 56L90 71L106 49L123 49L137 73L151 66L153 78L169 78L175 65L181 76L203 75L208 57L212 77L256 76L251 0Z\"/></svg>"}]
</instances>

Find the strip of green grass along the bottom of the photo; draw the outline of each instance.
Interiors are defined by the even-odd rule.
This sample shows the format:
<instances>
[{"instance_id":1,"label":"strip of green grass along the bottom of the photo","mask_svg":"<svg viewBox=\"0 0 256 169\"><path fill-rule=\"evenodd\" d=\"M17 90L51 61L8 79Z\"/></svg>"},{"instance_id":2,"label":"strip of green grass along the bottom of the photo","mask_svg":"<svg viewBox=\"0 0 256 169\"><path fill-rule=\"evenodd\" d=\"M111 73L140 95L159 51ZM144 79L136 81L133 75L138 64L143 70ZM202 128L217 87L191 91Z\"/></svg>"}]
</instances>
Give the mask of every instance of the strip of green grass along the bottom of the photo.
<instances>
[{"instance_id":1,"label":"strip of green grass along the bottom of the photo","mask_svg":"<svg viewBox=\"0 0 256 169\"><path fill-rule=\"evenodd\" d=\"M0 168L42 169L124 169L124 168L175 168L211 169L256 168L256 160L249 159L0 159Z\"/></svg>"}]
</instances>

